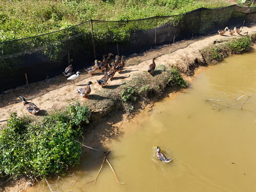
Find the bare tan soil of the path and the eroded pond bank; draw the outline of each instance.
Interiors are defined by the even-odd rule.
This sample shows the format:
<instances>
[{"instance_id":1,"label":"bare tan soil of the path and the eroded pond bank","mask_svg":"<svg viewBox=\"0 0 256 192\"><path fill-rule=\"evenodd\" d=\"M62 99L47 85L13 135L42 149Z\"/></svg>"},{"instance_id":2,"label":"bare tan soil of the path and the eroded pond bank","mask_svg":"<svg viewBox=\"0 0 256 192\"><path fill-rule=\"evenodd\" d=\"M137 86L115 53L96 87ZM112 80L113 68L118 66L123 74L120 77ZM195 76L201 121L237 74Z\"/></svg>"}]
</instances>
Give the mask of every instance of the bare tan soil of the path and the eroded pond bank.
<instances>
[{"instance_id":1,"label":"bare tan soil of the path and the eroded pond bank","mask_svg":"<svg viewBox=\"0 0 256 192\"><path fill-rule=\"evenodd\" d=\"M249 35L256 31L256 25L250 27L244 27L243 31L249 31ZM239 35L233 35L232 37L238 37ZM152 59L156 57L156 65L167 65L167 66L178 66L180 69L188 69L190 61L200 59L202 56L199 53L203 47L209 46L214 42L232 38L230 35L220 36L211 35L197 37L188 41L182 41L171 45L164 45L158 47L155 50L149 50L140 55L134 54L132 57L125 59L125 69L121 73L116 73L112 81L108 81L108 85L101 87L97 84L96 79L100 79L103 73L98 71L95 75L82 74L76 80L76 85L71 84L67 81L66 77L58 76L51 79L46 79L43 82L31 83L28 86L17 87L16 89L8 90L0 97L0 125L5 124L10 113L16 112L18 115L26 114L26 109L23 108L22 103L17 98L21 95L25 97L29 102L34 102L39 108L41 113L39 116L45 115L47 111L54 109L58 110L68 105L68 102L83 102L86 105L86 100L82 98L78 93L77 89L86 85L87 82L92 81L95 83L91 85L91 94L97 93L102 89L115 89L119 85L122 85L128 79L136 73L146 71L148 66L152 62ZM255 48L255 45L254 45ZM198 71L204 70L204 67L197 68ZM83 70L84 72L84 70ZM193 76L187 76L183 74L186 81L193 81ZM164 97L175 97L178 92L175 92L170 87L167 88L165 93L161 96ZM161 99L156 98L155 101ZM139 113L146 111L150 113L154 106L154 100L148 106L143 106L143 109L138 109ZM120 111L113 111L111 114L102 117L100 121L94 121L91 124L93 129L88 129L84 133L86 143L90 143L92 147L101 147L104 142L110 138L115 137L117 134L121 134L122 130L119 129L123 123L125 123L129 117L120 114ZM95 126L97 124L97 126ZM84 150L86 152L87 149ZM22 178L15 182L10 182L4 189L4 191L22 191L30 187L32 184L29 180ZM19 187L17 187L19 186ZM1 190L2 191L2 190Z\"/></svg>"}]
</instances>

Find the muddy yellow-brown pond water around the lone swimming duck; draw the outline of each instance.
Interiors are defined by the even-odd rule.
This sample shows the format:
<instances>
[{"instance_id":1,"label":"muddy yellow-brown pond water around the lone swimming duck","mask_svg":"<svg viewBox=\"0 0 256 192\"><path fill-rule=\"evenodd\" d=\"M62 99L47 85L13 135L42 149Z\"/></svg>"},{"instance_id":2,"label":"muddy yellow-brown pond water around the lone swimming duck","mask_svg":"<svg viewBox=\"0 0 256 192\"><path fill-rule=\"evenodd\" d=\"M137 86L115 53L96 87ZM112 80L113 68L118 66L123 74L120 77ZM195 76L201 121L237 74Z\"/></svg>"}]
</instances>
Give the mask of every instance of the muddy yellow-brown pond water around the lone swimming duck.
<instances>
[{"instance_id":1,"label":"muddy yellow-brown pond water around the lone swimming duck","mask_svg":"<svg viewBox=\"0 0 256 192\"><path fill-rule=\"evenodd\" d=\"M250 95L251 97L242 103ZM237 100L242 95L241 99ZM215 99L221 101L205 101ZM233 105L231 107L227 107ZM255 191L256 52L234 55L195 76L175 98L155 103L106 148L107 163L94 184L103 156L86 153L78 168L50 180L54 191ZM156 158L160 146L170 163ZM58 183L56 186L55 184ZM37 191L39 182L27 191ZM82 189L78 189L76 187ZM50 191L45 186L45 191ZM42 183L38 191L43 191Z\"/></svg>"}]
</instances>

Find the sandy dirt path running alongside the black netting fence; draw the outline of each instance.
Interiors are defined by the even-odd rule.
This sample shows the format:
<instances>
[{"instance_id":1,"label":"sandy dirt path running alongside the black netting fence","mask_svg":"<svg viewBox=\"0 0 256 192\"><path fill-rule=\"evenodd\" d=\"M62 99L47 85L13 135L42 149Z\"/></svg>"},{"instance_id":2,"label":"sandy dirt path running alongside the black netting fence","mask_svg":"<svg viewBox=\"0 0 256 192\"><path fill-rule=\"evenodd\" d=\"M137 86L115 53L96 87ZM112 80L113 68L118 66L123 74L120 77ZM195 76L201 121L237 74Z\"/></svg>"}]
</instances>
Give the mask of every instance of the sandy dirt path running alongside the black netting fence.
<instances>
[{"instance_id":1,"label":"sandy dirt path running alongside the black netting fence","mask_svg":"<svg viewBox=\"0 0 256 192\"><path fill-rule=\"evenodd\" d=\"M249 31L250 35L253 31L256 31L256 25L244 27L243 31ZM232 37L238 36L236 34ZM203 36L158 47L157 50L149 50L140 55L134 54L133 57L125 59L126 66L124 71L122 73L116 73L115 77L111 79L112 81L109 80L108 85L104 88L97 84L96 80L103 76L103 73L98 71L93 76L89 74L80 75L75 80L76 85L68 82L66 77L59 76L43 82L31 83L27 87L20 86L16 89L8 90L0 97L0 125L6 123L9 115L13 112L16 112L18 115L28 114L23 108L21 100L17 99L19 96L25 97L29 102L34 102L42 110L38 115L44 115L46 111L64 108L68 105L68 102L74 103L76 100L81 103L84 102L85 99L76 90L84 87L89 81L95 83L91 85L91 94L95 94L101 89L115 89L125 81L131 79L135 73L146 71L154 57L157 58L155 60L156 65L173 66L177 61L180 62L185 57L195 57L195 54L203 47L213 44L218 39L224 38L231 38L231 36L228 33L226 33L226 36L220 36L218 34ZM85 71L82 70L82 72L84 73Z\"/></svg>"}]
</instances>

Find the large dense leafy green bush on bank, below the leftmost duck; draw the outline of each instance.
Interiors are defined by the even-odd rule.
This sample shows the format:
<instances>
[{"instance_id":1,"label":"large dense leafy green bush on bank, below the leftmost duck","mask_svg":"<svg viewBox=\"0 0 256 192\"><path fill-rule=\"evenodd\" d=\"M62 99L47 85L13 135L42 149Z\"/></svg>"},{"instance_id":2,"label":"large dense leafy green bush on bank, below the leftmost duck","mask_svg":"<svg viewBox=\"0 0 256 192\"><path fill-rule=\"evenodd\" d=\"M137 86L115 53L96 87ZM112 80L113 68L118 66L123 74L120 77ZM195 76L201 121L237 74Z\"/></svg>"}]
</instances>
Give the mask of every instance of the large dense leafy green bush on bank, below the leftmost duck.
<instances>
[{"instance_id":1,"label":"large dense leafy green bush on bank, below the leftmost duck","mask_svg":"<svg viewBox=\"0 0 256 192\"><path fill-rule=\"evenodd\" d=\"M77 102L66 111L43 118L38 124L29 117L12 114L0 133L0 172L17 177L46 177L79 163L79 125L89 123L90 111Z\"/></svg>"}]
</instances>

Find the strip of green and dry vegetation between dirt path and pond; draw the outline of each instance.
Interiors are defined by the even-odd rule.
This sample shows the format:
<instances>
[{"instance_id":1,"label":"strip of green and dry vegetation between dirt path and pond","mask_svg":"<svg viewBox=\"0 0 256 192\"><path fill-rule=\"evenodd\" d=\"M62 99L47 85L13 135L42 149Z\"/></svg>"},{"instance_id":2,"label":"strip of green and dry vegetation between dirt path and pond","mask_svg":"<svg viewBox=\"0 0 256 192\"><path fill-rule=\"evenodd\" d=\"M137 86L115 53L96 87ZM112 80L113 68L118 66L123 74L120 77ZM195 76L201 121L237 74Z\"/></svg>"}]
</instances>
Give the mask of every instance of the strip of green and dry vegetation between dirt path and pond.
<instances>
[{"instance_id":1,"label":"strip of green and dry vegetation between dirt path and pond","mask_svg":"<svg viewBox=\"0 0 256 192\"><path fill-rule=\"evenodd\" d=\"M95 99L86 100L86 106L76 102L62 110L48 111L44 117L13 113L0 133L1 182L20 175L46 178L63 173L69 165L79 164L82 149L75 140L82 139L90 122L113 110L132 116L154 98L159 98L166 87L185 88L188 84L182 76L193 75L196 67L213 65L232 54L250 50L255 41L255 33L247 37L221 38L193 53L194 58L183 55L174 66L156 62L154 74L142 71L115 89L101 89Z\"/></svg>"}]
</instances>

